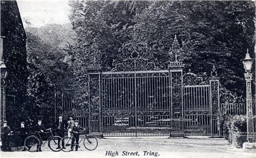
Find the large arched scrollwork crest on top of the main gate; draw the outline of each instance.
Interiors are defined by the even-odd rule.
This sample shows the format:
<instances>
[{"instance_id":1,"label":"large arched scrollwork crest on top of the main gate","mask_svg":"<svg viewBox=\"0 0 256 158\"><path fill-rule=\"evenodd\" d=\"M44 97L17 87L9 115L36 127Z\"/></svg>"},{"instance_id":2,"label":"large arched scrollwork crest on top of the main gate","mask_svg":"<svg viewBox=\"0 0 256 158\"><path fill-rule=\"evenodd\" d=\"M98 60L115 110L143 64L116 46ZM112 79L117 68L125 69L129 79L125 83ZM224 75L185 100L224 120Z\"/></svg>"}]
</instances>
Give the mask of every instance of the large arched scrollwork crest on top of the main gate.
<instances>
[{"instance_id":1,"label":"large arched scrollwork crest on top of the main gate","mask_svg":"<svg viewBox=\"0 0 256 158\"><path fill-rule=\"evenodd\" d=\"M129 43L124 43L119 48L117 59L113 60L112 66L107 66L106 71L150 71L163 70L164 64L159 64L157 58L150 48L139 43L135 39Z\"/></svg>"}]
</instances>

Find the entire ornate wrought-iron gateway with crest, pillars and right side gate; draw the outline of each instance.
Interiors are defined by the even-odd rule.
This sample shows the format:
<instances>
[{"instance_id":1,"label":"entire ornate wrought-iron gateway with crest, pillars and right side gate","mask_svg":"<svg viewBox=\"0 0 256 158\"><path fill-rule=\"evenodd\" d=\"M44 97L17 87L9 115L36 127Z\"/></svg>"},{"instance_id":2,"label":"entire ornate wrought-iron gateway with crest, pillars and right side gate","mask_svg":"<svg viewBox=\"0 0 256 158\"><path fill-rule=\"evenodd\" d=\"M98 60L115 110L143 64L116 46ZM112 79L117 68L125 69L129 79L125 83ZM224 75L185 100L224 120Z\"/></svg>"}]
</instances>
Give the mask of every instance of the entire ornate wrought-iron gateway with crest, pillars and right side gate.
<instances>
[{"instance_id":1,"label":"entire ornate wrought-iron gateway with crest, pillars and right side gate","mask_svg":"<svg viewBox=\"0 0 256 158\"><path fill-rule=\"evenodd\" d=\"M64 111L74 114L73 109L78 109L76 116L84 119L89 132L104 136L169 135L173 131L220 134L215 67L211 77L183 74L183 52L176 37L169 61L158 61L147 45L135 40L123 44L105 71L100 52L93 48L91 53L88 95L82 91L78 92L81 96L69 96L68 91L63 95Z\"/></svg>"}]
</instances>

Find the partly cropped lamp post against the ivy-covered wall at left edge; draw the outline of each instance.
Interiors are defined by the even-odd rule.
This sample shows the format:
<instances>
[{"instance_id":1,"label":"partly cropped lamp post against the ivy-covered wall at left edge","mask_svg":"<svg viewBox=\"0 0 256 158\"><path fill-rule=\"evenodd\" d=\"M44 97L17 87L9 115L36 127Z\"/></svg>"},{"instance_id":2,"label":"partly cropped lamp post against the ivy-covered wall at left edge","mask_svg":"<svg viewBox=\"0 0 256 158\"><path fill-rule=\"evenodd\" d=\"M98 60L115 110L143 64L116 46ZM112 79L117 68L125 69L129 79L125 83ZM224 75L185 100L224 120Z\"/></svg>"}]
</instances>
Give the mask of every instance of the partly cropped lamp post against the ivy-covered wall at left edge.
<instances>
[{"instance_id":1,"label":"partly cropped lamp post against the ivy-covered wall at left edge","mask_svg":"<svg viewBox=\"0 0 256 158\"><path fill-rule=\"evenodd\" d=\"M4 36L1 36L1 43L0 43L0 124L2 123L3 120L5 120L5 78L7 76L7 67L4 64L3 61L3 38ZM2 124L1 124L2 126Z\"/></svg>"}]
</instances>

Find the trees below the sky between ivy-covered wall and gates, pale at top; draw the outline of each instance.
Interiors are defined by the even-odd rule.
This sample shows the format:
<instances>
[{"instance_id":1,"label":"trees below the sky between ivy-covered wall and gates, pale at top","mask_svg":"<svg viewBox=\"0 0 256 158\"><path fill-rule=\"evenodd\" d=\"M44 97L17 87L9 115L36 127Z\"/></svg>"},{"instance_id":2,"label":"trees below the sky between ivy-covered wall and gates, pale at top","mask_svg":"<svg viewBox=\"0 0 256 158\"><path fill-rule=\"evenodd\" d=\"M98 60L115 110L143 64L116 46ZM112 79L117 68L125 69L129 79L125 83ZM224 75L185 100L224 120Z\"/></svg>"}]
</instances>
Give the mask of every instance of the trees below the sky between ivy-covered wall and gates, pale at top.
<instances>
[{"instance_id":1,"label":"trees below the sky between ivy-covered wall and gates, pale at top","mask_svg":"<svg viewBox=\"0 0 256 158\"><path fill-rule=\"evenodd\" d=\"M51 126L56 113L61 110L61 91L58 85L72 79L69 57L63 48L72 43L70 25L51 24L40 28L31 27L26 21L26 50L28 52L28 111L35 111L30 120L42 119L44 124ZM54 95L58 95L57 101ZM36 110L37 109L37 110Z\"/></svg>"}]
</instances>

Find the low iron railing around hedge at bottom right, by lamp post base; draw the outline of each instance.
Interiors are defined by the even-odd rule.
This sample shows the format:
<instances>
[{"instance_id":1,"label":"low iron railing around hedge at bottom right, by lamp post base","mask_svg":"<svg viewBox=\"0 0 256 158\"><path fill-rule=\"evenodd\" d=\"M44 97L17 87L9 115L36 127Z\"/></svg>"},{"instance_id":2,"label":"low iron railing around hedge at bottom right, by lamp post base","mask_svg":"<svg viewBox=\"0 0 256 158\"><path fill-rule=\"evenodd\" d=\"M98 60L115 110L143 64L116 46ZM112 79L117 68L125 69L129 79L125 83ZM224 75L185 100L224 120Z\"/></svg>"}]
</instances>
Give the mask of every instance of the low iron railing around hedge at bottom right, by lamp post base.
<instances>
[{"instance_id":1,"label":"low iron railing around hedge at bottom right, by lamp post base","mask_svg":"<svg viewBox=\"0 0 256 158\"><path fill-rule=\"evenodd\" d=\"M243 148L243 143L256 141L256 132L247 133L247 132L232 132L228 134L227 141L231 146L236 148ZM256 149L255 146L252 149Z\"/></svg>"}]
</instances>

